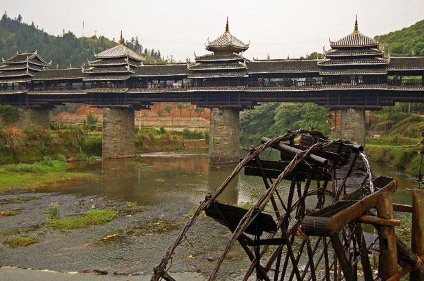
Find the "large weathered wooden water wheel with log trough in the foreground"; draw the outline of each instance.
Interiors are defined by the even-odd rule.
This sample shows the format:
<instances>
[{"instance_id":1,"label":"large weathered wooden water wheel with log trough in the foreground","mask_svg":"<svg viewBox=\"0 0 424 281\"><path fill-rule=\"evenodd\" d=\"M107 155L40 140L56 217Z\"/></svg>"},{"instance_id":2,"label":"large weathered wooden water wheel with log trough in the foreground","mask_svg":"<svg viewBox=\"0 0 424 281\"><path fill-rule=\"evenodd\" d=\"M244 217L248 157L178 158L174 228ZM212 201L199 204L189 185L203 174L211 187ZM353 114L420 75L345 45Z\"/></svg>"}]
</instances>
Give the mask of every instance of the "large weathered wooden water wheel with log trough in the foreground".
<instances>
[{"instance_id":1,"label":"large weathered wooden water wheel with log trough in the foreground","mask_svg":"<svg viewBox=\"0 0 424 281\"><path fill-rule=\"evenodd\" d=\"M295 142L299 134L301 141ZM279 149L281 160L261 160L268 147ZM174 281L168 263L202 211L232 232L207 273L210 281L236 242L250 259L241 280L254 280L252 273L256 280L274 281L394 281L407 273L410 280L424 280L424 190L413 192L412 205L394 204L396 180L370 178L362 157L363 147L329 141L314 131L263 138L263 144L250 149L224 183L200 203L154 268L152 281ZM250 209L218 202L243 168L245 174L263 179L261 198ZM283 180L289 183L282 185ZM281 189L288 189L287 198L281 197ZM401 225L395 211L412 213L411 249L395 235L395 227ZM376 229L376 236L365 233L364 224ZM205 236L210 231L205 229ZM373 269L372 263L378 267Z\"/></svg>"}]
</instances>

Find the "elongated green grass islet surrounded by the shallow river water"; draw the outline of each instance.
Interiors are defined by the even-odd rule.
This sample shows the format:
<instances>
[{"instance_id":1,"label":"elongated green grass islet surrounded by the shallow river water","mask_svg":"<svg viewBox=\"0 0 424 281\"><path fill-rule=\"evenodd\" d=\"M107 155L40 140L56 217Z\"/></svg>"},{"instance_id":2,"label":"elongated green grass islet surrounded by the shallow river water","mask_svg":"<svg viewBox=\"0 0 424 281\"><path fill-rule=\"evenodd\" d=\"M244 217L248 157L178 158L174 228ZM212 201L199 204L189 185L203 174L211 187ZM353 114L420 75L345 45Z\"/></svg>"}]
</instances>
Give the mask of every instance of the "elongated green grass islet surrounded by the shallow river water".
<instances>
[{"instance_id":1,"label":"elongated green grass islet surrounded by the shallow river water","mask_svg":"<svg viewBox=\"0 0 424 281\"><path fill-rule=\"evenodd\" d=\"M101 225L114 220L118 212L110 209L99 209L86 211L81 216L72 218L54 218L49 219L46 226L52 229L79 229L90 225Z\"/></svg>"}]
</instances>

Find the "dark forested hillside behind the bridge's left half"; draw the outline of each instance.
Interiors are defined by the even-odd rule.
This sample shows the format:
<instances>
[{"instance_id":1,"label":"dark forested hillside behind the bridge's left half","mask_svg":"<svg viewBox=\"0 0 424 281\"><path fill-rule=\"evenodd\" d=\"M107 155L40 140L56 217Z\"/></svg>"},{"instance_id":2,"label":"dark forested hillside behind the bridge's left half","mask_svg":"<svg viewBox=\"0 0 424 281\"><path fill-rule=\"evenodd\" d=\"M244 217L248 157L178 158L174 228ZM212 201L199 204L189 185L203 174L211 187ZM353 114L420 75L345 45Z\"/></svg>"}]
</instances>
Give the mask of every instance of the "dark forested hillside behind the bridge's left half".
<instances>
[{"instance_id":1,"label":"dark forested hillside behind the bridge's left half","mask_svg":"<svg viewBox=\"0 0 424 281\"><path fill-rule=\"evenodd\" d=\"M87 59L93 60L93 52L101 52L117 45L103 36L76 37L63 30L61 36L53 36L39 29L33 22L24 23L21 15L16 19L8 17L6 12L0 20L0 57L8 59L18 51L37 50L46 61L52 61L52 67L81 66ZM143 53L145 60L154 63L163 62L161 52L143 48L139 39L131 38L126 45L132 50Z\"/></svg>"}]
</instances>

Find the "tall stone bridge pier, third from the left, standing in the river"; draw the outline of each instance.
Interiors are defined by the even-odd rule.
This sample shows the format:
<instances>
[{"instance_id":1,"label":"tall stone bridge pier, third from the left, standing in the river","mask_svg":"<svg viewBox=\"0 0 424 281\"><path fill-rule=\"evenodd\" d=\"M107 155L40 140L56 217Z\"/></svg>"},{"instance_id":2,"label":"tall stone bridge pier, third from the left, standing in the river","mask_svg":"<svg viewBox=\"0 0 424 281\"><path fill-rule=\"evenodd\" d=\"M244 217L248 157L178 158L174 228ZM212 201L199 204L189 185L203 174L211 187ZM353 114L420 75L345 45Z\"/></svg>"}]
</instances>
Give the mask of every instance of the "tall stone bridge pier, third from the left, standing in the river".
<instances>
[{"instance_id":1,"label":"tall stone bridge pier, third from the left, standing in the river","mask_svg":"<svg viewBox=\"0 0 424 281\"><path fill-rule=\"evenodd\" d=\"M240 158L240 116L232 108L212 108L209 160L212 164L231 164Z\"/></svg>"}]
</instances>

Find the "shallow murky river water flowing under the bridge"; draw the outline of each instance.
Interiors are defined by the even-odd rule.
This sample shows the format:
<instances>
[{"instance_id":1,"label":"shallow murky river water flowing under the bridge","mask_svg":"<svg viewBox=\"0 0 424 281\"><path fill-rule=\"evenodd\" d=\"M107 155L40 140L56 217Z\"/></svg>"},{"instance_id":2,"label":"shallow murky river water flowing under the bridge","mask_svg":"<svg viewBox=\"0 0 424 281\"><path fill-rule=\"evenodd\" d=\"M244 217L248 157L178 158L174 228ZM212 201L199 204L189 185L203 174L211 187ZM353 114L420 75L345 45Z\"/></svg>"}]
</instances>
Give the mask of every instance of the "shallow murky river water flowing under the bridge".
<instances>
[{"instance_id":1,"label":"shallow murky river water flowing under the bridge","mask_svg":"<svg viewBox=\"0 0 424 281\"><path fill-rule=\"evenodd\" d=\"M245 153L245 152L243 152ZM269 158L278 154L270 152ZM234 165L210 165L206 151L141 154L134 159L74 163L72 169L94 176L79 182L40 187L32 192L0 194L0 200L30 198L0 206L22 214L0 220L0 231L26 229L40 242L12 249L0 245L0 264L59 271L103 269L149 274L159 264L190 212L223 182ZM410 203L416 179L384 167L374 173L398 179L396 202ZM287 183L285 183L286 185ZM236 176L219 200L233 205L255 202L263 193L261 178ZM285 198L287 189L280 188ZM57 231L46 229L46 209L57 203L61 217L95 208L118 209L121 215L106 225ZM230 231L201 216L181 244L172 264L174 272L207 273L219 257ZM6 236L1 237L3 241ZM219 280L233 280L250 262L236 245L223 263Z\"/></svg>"}]
</instances>

